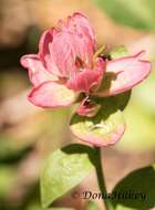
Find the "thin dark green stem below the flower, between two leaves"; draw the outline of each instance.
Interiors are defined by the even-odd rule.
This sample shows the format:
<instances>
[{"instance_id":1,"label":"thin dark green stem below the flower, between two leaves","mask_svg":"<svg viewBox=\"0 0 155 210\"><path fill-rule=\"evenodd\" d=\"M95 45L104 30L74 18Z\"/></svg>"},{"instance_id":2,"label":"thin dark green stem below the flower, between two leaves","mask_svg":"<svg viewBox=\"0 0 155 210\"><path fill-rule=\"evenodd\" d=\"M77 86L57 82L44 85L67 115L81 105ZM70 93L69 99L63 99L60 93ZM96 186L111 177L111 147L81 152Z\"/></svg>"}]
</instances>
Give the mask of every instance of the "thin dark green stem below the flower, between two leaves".
<instances>
[{"instance_id":1,"label":"thin dark green stem below the flower, between two leaves","mask_svg":"<svg viewBox=\"0 0 155 210\"><path fill-rule=\"evenodd\" d=\"M101 193L106 197L107 191L106 191L106 186L105 186L105 180L104 180L104 175L103 175L103 169L102 169L102 156L101 156L101 149L100 147L95 147L95 169L96 169L96 176L97 176L97 182L99 182L99 188L101 190ZM103 199L103 202L105 204L106 210L114 210L112 207L111 202L108 199Z\"/></svg>"}]
</instances>

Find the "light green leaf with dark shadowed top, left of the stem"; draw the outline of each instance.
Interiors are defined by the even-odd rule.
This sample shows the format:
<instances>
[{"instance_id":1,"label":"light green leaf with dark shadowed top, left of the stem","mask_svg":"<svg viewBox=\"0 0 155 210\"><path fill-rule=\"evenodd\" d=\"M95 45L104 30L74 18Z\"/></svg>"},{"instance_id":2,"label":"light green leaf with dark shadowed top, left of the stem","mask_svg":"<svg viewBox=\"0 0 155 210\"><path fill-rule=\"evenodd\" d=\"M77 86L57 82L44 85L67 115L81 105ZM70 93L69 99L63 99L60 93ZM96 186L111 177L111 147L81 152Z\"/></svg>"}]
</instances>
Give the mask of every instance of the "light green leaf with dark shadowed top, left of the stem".
<instances>
[{"instance_id":1,"label":"light green leaf with dark shadowed top, left of the stem","mask_svg":"<svg viewBox=\"0 0 155 210\"><path fill-rule=\"evenodd\" d=\"M78 186L92 171L93 153L91 147L73 144L50 155L41 175L43 207Z\"/></svg>"}]
</instances>

